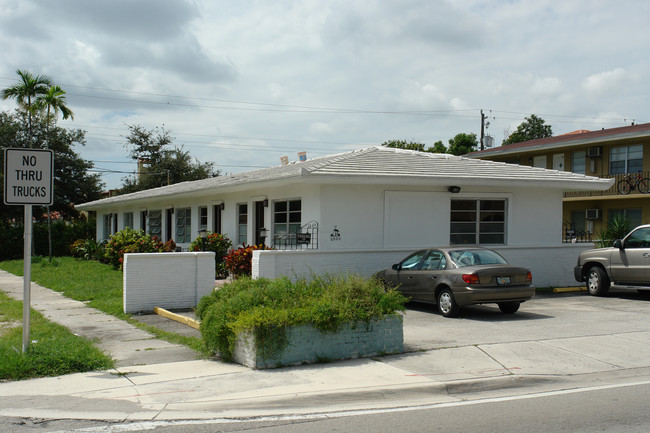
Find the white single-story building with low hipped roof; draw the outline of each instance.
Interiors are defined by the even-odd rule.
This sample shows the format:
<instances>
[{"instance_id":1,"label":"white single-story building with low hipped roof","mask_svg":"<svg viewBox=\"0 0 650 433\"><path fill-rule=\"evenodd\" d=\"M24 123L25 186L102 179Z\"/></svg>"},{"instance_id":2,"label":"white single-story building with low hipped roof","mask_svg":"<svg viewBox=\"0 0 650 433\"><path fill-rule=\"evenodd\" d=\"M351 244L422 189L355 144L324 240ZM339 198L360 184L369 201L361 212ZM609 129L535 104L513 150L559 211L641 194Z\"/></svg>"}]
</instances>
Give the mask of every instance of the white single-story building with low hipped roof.
<instances>
[{"instance_id":1,"label":"white single-story building with low hipped roof","mask_svg":"<svg viewBox=\"0 0 650 433\"><path fill-rule=\"evenodd\" d=\"M256 276L369 275L419 248L477 244L530 267L536 285L557 286L571 283L575 258L589 247L562 244L563 192L610 184L565 171L371 147L77 209L97 213L97 239L130 226L186 249L206 229L236 246L275 247L255 253Z\"/></svg>"}]
</instances>

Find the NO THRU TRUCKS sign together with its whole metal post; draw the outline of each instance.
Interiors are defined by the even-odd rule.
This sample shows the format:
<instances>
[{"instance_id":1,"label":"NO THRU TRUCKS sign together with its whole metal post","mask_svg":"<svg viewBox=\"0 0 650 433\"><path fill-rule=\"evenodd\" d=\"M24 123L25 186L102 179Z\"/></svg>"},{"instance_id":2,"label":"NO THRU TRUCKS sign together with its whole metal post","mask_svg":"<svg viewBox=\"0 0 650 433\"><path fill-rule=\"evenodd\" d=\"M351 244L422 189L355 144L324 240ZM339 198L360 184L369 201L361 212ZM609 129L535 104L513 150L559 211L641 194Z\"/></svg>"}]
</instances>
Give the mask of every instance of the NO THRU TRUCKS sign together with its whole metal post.
<instances>
[{"instance_id":1,"label":"NO THRU TRUCKS sign together with its whole metal post","mask_svg":"<svg viewBox=\"0 0 650 433\"><path fill-rule=\"evenodd\" d=\"M32 281L32 205L53 202L54 152L5 148L4 203L25 206L23 248L23 353L29 349Z\"/></svg>"}]
</instances>

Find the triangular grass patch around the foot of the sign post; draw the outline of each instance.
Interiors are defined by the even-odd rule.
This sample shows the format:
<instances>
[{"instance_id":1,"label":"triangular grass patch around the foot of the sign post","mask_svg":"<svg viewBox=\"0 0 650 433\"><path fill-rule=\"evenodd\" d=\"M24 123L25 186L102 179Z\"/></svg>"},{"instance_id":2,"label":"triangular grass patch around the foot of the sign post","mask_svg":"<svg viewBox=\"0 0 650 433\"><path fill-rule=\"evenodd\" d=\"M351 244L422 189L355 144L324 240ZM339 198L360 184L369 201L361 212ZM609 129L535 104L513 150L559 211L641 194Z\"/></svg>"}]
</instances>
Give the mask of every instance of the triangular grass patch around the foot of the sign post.
<instances>
[{"instance_id":1,"label":"triangular grass patch around the foot of the sign post","mask_svg":"<svg viewBox=\"0 0 650 433\"><path fill-rule=\"evenodd\" d=\"M113 367L112 359L85 338L31 312L30 346L22 353L23 303L0 292L0 380L58 376Z\"/></svg>"}]
</instances>

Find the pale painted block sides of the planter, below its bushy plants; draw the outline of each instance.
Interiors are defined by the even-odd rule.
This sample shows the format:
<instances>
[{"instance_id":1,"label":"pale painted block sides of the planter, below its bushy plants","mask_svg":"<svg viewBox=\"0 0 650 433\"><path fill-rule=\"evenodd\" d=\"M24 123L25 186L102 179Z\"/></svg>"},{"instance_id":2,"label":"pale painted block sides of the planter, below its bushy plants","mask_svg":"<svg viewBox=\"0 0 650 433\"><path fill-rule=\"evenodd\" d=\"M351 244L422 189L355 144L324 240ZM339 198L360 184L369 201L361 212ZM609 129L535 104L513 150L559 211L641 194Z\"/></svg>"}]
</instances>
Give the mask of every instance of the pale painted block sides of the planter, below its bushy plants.
<instances>
[{"instance_id":1,"label":"pale painted block sides of the planter, below its bushy plants","mask_svg":"<svg viewBox=\"0 0 650 433\"><path fill-rule=\"evenodd\" d=\"M241 333L237 336L233 360L262 369L401 353L404 351L402 316L345 324L335 333L323 333L311 325L296 326L287 330L287 341L283 350L269 357L258 347L252 330Z\"/></svg>"}]
</instances>

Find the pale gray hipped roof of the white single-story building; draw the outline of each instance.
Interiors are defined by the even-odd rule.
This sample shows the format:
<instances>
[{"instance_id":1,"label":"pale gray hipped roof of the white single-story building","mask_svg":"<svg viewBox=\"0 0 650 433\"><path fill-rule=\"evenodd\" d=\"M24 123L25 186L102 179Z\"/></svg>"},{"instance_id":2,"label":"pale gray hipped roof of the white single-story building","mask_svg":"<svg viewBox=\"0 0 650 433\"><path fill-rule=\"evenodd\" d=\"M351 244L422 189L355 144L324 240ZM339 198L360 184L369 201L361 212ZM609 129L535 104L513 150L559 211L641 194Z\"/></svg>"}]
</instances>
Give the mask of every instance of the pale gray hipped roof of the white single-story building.
<instances>
[{"instance_id":1,"label":"pale gray hipped roof of the white single-story building","mask_svg":"<svg viewBox=\"0 0 650 433\"><path fill-rule=\"evenodd\" d=\"M93 210L141 199L201 195L259 186L260 182L376 183L412 185L543 186L563 190L604 190L612 180L466 157L370 147L244 173L182 182L77 205Z\"/></svg>"}]
</instances>

